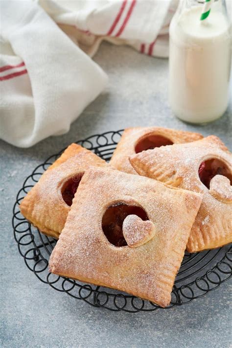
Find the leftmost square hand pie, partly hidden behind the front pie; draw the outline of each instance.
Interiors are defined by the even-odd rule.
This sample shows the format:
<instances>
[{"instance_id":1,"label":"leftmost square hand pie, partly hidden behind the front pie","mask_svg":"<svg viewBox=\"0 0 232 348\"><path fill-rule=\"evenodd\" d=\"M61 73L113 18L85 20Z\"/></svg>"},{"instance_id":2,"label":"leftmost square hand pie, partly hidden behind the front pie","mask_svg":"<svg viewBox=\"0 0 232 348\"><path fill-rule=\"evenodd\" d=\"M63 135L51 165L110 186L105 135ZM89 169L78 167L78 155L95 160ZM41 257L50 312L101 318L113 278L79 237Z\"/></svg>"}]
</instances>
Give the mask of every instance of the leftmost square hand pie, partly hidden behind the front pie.
<instances>
[{"instance_id":1,"label":"leftmost square hand pie, partly hidden behind the front pie","mask_svg":"<svg viewBox=\"0 0 232 348\"><path fill-rule=\"evenodd\" d=\"M41 232L59 238L72 198L90 165L108 166L90 150L71 144L25 196L20 204L23 216Z\"/></svg>"}]
</instances>

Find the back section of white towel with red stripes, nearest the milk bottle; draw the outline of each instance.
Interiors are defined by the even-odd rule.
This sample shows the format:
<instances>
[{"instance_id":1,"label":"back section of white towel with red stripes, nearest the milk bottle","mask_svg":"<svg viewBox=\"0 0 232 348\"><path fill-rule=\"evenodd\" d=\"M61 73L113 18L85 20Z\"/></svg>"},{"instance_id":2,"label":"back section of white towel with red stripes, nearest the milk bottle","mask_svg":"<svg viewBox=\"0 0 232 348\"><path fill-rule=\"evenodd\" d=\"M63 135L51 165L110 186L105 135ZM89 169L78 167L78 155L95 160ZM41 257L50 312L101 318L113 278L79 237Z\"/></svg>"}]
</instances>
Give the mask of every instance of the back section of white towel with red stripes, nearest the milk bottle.
<instances>
[{"instance_id":1,"label":"back section of white towel with red stripes, nearest the milk bottle","mask_svg":"<svg viewBox=\"0 0 232 348\"><path fill-rule=\"evenodd\" d=\"M102 40L168 57L168 28L179 0L38 0L70 38L93 56Z\"/></svg>"}]
</instances>

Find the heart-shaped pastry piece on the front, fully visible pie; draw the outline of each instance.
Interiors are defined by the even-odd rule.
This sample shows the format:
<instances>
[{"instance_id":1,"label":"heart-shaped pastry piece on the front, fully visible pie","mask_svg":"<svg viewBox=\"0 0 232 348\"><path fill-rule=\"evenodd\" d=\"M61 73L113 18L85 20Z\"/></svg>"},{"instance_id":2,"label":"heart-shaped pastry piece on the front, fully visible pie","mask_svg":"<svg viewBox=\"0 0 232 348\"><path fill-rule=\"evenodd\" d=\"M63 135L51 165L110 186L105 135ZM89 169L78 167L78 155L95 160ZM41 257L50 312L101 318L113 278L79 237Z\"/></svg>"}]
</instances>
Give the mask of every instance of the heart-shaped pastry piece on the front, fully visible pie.
<instances>
[{"instance_id":1,"label":"heart-shaped pastry piece on the front, fully visible pie","mask_svg":"<svg viewBox=\"0 0 232 348\"><path fill-rule=\"evenodd\" d=\"M128 247L136 248L147 243L155 235L152 221L143 221L137 215L128 215L123 221L122 231Z\"/></svg>"}]
</instances>

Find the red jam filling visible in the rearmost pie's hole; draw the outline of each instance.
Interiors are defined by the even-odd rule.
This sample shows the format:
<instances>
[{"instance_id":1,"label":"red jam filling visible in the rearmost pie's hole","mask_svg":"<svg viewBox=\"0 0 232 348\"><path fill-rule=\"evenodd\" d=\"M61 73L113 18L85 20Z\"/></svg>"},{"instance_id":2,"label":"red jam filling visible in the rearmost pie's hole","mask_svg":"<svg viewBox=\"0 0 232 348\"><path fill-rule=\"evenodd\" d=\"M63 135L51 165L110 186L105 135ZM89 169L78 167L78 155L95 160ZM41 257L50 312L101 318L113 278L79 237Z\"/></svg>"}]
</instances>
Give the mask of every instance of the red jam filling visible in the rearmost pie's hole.
<instances>
[{"instance_id":1,"label":"red jam filling visible in the rearmost pie's hole","mask_svg":"<svg viewBox=\"0 0 232 348\"><path fill-rule=\"evenodd\" d=\"M161 147L166 145L172 145L173 142L165 137L159 135L148 135L138 141L135 146L135 152L139 152L154 149L155 147Z\"/></svg>"}]
</instances>

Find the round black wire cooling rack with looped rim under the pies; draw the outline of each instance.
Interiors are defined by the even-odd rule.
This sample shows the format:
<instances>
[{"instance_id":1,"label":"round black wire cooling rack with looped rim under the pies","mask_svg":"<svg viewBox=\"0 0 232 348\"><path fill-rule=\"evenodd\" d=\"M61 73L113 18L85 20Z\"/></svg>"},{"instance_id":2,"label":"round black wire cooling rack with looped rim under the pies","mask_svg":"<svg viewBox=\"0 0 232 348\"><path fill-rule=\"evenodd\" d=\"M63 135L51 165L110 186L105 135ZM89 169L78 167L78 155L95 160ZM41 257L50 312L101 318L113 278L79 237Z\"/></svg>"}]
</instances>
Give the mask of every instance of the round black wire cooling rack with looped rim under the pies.
<instances>
[{"instance_id":1,"label":"round black wire cooling rack with looped rim under the pies","mask_svg":"<svg viewBox=\"0 0 232 348\"><path fill-rule=\"evenodd\" d=\"M121 137L123 130L94 135L85 140L77 141L102 159L109 161ZM17 194L13 209L12 225L14 237L18 244L20 255L23 256L26 266L43 283L53 289L65 292L71 297L88 302L94 307L103 307L111 311L155 311L160 306L139 299L117 290L83 284L77 280L59 277L48 273L48 260L56 240L47 237L24 219L19 210L20 202L27 192L38 182L44 171L60 155L50 156L44 163L38 165L23 183ZM192 302L203 297L232 275L232 247L225 247L203 251L200 253L185 253L179 273L175 279L172 291L172 300L168 307ZM166 309L165 308L165 309Z\"/></svg>"}]
</instances>

